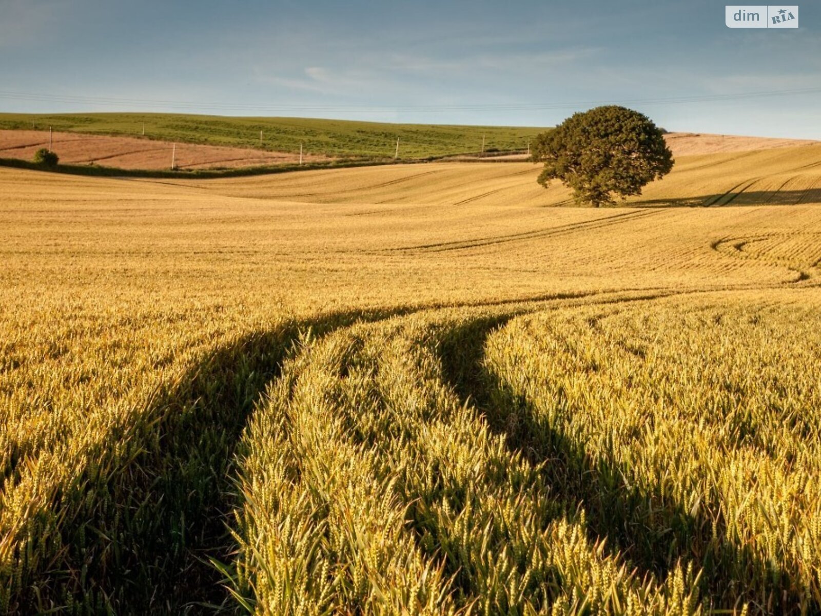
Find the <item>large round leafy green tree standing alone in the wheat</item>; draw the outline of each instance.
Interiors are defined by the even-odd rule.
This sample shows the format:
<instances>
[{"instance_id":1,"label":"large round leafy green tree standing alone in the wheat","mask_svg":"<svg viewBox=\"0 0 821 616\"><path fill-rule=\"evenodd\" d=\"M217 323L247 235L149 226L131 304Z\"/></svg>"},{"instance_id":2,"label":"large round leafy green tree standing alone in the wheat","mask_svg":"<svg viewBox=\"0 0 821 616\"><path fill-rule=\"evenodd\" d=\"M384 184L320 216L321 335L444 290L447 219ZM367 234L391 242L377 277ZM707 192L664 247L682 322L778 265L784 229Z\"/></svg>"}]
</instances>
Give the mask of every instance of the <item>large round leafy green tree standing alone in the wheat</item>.
<instances>
[{"instance_id":1,"label":"large round leafy green tree standing alone in the wheat","mask_svg":"<svg viewBox=\"0 0 821 616\"><path fill-rule=\"evenodd\" d=\"M561 180L578 203L614 205L613 194L640 195L648 182L672 169L663 131L641 113L607 105L574 113L539 135L532 158L544 162L539 184Z\"/></svg>"}]
</instances>

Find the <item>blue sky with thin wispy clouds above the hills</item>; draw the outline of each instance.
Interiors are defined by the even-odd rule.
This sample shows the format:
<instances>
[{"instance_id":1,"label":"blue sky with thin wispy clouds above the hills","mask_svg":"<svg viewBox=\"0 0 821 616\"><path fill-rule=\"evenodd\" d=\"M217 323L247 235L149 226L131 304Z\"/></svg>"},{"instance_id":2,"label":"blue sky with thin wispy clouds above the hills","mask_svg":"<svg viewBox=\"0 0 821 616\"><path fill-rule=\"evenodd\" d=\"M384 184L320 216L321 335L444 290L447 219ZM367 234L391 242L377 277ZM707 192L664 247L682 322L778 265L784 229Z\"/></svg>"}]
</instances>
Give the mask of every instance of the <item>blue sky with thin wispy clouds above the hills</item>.
<instances>
[{"instance_id":1,"label":"blue sky with thin wispy clouds above the hills","mask_svg":"<svg viewBox=\"0 0 821 616\"><path fill-rule=\"evenodd\" d=\"M731 30L712 0L0 0L0 111L552 126L613 102L821 139L819 12Z\"/></svg>"}]
</instances>

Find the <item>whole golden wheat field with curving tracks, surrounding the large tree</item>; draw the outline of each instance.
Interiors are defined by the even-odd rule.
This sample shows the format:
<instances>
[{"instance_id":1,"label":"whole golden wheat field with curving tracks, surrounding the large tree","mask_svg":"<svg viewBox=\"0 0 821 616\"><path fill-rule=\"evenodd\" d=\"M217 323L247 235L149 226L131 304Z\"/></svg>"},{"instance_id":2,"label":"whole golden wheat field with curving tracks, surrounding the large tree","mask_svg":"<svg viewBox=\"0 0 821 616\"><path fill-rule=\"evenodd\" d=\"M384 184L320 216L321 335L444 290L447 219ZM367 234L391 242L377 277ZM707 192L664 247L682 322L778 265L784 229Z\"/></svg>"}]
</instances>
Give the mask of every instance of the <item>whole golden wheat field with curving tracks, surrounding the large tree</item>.
<instances>
[{"instance_id":1,"label":"whole golden wheat field with curving tracks, surrounding the large tree","mask_svg":"<svg viewBox=\"0 0 821 616\"><path fill-rule=\"evenodd\" d=\"M816 614L821 146L0 169L0 612Z\"/></svg>"}]
</instances>

